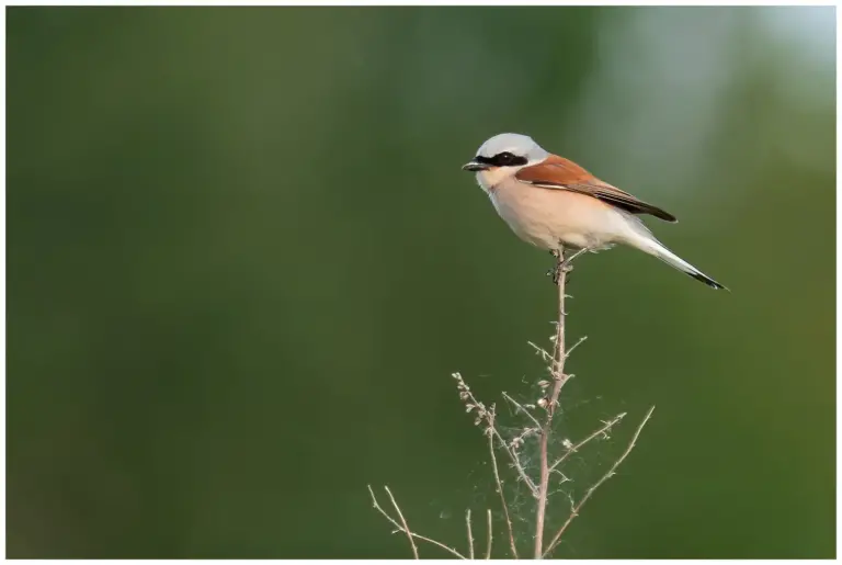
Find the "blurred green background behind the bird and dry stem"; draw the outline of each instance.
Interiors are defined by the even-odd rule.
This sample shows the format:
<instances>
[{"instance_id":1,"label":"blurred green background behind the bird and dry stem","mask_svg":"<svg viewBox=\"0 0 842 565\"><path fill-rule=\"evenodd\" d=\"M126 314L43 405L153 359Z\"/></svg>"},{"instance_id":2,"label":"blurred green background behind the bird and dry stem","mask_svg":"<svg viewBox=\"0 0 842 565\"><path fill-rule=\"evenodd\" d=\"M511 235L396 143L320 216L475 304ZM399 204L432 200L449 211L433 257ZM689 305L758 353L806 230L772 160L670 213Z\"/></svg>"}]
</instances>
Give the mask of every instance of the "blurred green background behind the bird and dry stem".
<instances>
[{"instance_id":1,"label":"blurred green background behind the bird and dry stem","mask_svg":"<svg viewBox=\"0 0 842 565\"><path fill-rule=\"evenodd\" d=\"M558 438L629 416L551 524L657 410L557 555L833 556L834 15L9 9L9 556L409 556L367 484L464 550L499 507L450 374L534 402L556 307L459 170L507 131L732 290L579 262Z\"/></svg>"}]
</instances>

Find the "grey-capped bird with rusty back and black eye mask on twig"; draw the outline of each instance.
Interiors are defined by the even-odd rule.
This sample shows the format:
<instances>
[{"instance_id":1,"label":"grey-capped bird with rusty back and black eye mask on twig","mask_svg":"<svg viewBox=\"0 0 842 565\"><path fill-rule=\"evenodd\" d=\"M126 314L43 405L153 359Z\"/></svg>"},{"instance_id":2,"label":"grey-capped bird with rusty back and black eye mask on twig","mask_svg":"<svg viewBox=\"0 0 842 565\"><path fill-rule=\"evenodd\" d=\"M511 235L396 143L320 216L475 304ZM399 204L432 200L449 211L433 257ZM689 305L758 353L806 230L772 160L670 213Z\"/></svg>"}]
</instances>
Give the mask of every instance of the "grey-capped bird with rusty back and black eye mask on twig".
<instances>
[{"instance_id":1,"label":"grey-capped bird with rusty back and black eye mask on twig","mask_svg":"<svg viewBox=\"0 0 842 565\"><path fill-rule=\"evenodd\" d=\"M725 289L661 244L641 215L675 223L675 216L602 181L532 137L499 134L463 166L497 213L521 239L559 257L565 249L600 251L626 245L657 257L713 289Z\"/></svg>"}]
</instances>

